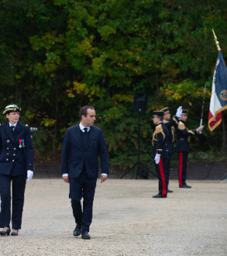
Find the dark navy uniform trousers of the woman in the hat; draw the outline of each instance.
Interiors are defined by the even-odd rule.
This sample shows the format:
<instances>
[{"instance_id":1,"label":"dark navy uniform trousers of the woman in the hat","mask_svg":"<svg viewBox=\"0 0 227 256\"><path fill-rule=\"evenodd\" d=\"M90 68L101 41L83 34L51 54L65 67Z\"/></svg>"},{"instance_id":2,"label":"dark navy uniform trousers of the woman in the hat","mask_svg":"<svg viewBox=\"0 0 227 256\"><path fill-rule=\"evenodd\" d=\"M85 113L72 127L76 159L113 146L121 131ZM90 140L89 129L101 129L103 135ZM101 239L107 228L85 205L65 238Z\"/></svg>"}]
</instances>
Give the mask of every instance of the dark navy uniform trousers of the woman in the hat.
<instances>
[{"instance_id":1,"label":"dark navy uniform trousers of the woman in the hat","mask_svg":"<svg viewBox=\"0 0 227 256\"><path fill-rule=\"evenodd\" d=\"M9 176L0 174L0 192L1 192L1 214L0 227L5 228L10 225L11 219L11 192L10 185L13 183L13 211L12 211L12 228L21 229L24 191L26 185L26 175Z\"/></svg>"}]
</instances>

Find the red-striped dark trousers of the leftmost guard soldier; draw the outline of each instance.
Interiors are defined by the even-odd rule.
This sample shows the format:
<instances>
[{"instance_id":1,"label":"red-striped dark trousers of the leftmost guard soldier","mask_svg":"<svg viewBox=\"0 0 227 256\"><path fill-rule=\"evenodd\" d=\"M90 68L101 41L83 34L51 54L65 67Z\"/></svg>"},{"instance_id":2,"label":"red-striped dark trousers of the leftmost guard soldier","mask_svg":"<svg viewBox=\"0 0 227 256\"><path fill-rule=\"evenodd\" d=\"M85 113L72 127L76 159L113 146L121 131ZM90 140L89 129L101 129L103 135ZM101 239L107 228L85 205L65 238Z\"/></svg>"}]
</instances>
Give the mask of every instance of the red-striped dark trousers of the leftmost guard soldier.
<instances>
[{"instance_id":1,"label":"red-striped dark trousers of the leftmost guard soldier","mask_svg":"<svg viewBox=\"0 0 227 256\"><path fill-rule=\"evenodd\" d=\"M157 164L154 161L157 177L159 179L158 189L159 194L162 197L167 196L167 181L168 181L168 172L167 172L167 159L160 158L160 162Z\"/></svg>"}]
</instances>

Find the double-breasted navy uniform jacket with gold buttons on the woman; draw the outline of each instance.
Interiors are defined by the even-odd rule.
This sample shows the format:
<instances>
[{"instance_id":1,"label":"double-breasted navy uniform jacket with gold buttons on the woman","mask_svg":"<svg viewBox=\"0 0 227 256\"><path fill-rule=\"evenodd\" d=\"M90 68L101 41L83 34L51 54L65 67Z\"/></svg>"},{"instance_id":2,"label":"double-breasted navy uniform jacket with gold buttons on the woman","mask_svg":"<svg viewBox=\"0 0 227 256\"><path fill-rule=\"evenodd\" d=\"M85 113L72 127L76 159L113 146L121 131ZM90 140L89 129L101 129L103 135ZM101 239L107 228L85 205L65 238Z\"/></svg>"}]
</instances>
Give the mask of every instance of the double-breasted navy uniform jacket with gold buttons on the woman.
<instances>
[{"instance_id":1,"label":"double-breasted navy uniform jacket with gold buttons on the woman","mask_svg":"<svg viewBox=\"0 0 227 256\"><path fill-rule=\"evenodd\" d=\"M13 133L9 123L0 124L0 174L27 174L27 170L34 170L30 128L18 122ZM19 139L24 140L25 148L19 148Z\"/></svg>"}]
</instances>

